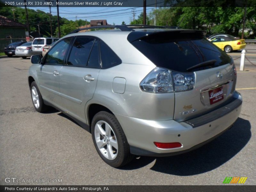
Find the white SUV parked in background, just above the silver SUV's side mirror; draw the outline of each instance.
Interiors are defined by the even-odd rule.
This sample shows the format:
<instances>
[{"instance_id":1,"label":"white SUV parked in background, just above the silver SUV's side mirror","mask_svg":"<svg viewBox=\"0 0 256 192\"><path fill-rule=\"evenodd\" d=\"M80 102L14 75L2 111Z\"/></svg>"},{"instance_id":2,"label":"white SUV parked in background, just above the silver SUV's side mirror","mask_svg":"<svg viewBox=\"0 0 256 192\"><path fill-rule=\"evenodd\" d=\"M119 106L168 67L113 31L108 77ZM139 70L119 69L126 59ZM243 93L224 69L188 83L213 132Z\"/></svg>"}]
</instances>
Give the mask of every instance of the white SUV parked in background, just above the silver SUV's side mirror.
<instances>
[{"instance_id":1,"label":"white SUV parked in background, just above the silver SUV's side mirror","mask_svg":"<svg viewBox=\"0 0 256 192\"><path fill-rule=\"evenodd\" d=\"M58 41L59 38L40 37L35 38L32 43L33 54L42 55L43 47L52 44L52 42Z\"/></svg>"}]
</instances>

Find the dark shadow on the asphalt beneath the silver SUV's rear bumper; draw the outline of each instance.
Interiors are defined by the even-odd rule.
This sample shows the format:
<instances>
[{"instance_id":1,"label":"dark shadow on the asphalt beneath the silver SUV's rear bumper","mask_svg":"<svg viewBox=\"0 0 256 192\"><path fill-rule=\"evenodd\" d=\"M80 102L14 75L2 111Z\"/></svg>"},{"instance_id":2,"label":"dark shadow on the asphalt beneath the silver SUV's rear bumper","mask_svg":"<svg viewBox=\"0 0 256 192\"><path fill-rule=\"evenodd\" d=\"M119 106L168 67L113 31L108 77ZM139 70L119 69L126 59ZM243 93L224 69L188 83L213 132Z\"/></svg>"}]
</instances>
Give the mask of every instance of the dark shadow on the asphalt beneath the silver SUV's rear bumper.
<instances>
[{"instance_id":1,"label":"dark shadow on the asphalt beneath the silver SUV's rear bumper","mask_svg":"<svg viewBox=\"0 0 256 192\"><path fill-rule=\"evenodd\" d=\"M156 172L180 176L208 172L233 158L248 143L251 135L250 122L238 118L231 129L201 148L177 156L136 158L121 169L139 169L156 160L150 168Z\"/></svg>"}]
</instances>

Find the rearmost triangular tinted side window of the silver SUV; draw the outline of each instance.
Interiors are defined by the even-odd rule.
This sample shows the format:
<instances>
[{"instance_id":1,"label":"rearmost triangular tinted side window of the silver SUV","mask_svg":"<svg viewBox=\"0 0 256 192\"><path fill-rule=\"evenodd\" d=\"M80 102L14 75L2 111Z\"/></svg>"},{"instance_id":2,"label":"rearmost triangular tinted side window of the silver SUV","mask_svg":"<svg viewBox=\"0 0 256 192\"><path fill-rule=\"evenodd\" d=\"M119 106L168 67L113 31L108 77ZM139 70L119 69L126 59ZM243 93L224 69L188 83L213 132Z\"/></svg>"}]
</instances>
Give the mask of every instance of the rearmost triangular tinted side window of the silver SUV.
<instances>
[{"instance_id":1,"label":"rearmost triangular tinted side window of the silver SUV","mask_svg":"<svg viewBox=\"0 0 256 192\"><path fill-rule=\"evenodd\" d=\"M122 60L113 52L107 44L100 41L100 57L102 68L109 68L122 63Z\"/></svg>"}]
</instances>

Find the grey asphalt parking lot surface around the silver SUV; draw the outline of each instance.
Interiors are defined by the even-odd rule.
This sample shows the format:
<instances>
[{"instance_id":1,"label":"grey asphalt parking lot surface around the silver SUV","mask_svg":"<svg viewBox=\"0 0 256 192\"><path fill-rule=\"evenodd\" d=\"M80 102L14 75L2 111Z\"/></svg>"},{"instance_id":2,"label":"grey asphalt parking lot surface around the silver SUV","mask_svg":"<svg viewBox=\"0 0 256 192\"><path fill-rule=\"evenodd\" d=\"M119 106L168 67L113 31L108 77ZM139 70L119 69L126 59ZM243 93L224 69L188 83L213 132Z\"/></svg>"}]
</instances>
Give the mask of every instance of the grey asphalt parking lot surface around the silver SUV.
<instances>
[{"instance_id":1,"label":"grey asphalt parking lot surface around the silver SUV","mask_svg":"<svg viewBox=\"0 0 256 192\"><path fill-rule=\"evenodd\" d=\"M256 65L256 46L247 46ZM246 53L246 54L247 54ZM230 53L235 59L240 52ZM61 179L62 185L222 185L226 177L247 177L256 185L256 66L245 62L236 89L243 96L234 126L205 146L172 157L138 157L115 169L97 154L91 134L53 110L34 109L28 87L30 59L0 57L0 185L6 177Z\"/></svg>"}]
</instances>

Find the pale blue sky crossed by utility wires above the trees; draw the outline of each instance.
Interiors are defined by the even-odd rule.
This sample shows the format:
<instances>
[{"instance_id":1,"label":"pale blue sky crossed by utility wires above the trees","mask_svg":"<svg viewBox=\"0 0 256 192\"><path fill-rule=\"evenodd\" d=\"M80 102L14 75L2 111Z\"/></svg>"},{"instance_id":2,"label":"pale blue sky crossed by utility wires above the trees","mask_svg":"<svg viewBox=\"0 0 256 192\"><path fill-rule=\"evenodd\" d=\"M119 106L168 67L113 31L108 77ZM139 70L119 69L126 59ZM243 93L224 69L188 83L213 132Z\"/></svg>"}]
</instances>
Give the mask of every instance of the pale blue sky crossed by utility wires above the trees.
<instances>
[{"instance_id":1,"label":"pale blue sky crossed by utility wires above the trees","mask_svg":"<svg viewBox=\"0 0 256 192\"><path fill-rule=\"evenodd\" d=\"M49 7L29 7L29 9L50 12ZM153 9L148 7L147 13ZM67 18L68 20L87 19L87 21L90 21L106 19L108 24L111 25L113 23L121 25L123 21L127 25L130 24L130 20L133 20L132 10L132 7L59 7L60 17ZM51 11L52 15L57 15L57 7L51 7ZM140 13L143 12L143 7L134 8L134 11L136 14L135 19L137 19Z\"/></svg>"}]
</instances>

